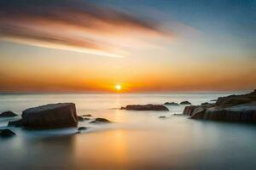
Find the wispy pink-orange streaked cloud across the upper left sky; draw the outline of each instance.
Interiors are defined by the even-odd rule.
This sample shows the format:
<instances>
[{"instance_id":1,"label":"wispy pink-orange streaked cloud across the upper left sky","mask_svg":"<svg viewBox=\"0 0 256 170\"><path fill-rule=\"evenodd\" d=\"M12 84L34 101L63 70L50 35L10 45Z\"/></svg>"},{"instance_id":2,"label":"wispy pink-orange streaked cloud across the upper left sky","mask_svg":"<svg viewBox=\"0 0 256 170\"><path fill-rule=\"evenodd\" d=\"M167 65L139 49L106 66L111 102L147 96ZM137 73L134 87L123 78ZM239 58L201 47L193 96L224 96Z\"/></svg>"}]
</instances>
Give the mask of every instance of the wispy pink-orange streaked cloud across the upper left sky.
<instances>
[{"instance_id":1,"label":"wispy pink-orange streaked cloud across the upper left sky","mask_svg":"<svg viewBox=\"0 0 256 170\"><path fill-rule=\"evenodd\" d=\"M2 0L3 40L110 57L122 56L112 38L127 32L166 37L155 20L79 0Z\"/></svg>"}]
</instances>

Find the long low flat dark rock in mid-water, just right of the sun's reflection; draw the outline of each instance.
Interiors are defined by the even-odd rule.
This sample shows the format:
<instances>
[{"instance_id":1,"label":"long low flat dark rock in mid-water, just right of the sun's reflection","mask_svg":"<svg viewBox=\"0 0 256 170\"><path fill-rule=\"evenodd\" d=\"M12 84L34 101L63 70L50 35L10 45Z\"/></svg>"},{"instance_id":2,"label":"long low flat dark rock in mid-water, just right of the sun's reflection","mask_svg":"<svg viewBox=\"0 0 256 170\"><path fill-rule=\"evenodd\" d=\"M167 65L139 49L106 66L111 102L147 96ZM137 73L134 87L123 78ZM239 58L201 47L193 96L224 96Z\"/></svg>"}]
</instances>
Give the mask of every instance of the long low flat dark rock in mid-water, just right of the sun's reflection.
<instances>
[{"instance_id":1,"label":"long low flat dark rock in mid-water, just right of the sun's reflection","mask_svg":"<svg viewBox=\"0 0 256 170\"><path fill-rule=\"evenodd\" d=\"M122 110L128 111L169 111L165 105L126 105L121 107Z\"/></svg>"}]
</instances>

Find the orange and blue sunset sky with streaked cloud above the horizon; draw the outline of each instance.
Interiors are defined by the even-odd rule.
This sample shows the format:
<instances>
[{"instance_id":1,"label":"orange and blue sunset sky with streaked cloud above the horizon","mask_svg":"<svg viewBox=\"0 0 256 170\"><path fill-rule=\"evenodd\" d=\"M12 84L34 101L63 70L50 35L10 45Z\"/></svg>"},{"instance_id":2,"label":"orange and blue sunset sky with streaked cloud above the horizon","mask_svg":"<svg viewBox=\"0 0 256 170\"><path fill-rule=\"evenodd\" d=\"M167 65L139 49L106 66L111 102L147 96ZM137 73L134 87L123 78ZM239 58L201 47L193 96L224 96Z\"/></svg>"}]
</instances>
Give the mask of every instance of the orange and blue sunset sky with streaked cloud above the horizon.
<instances>
[{"instance_id":1,"label":"orange and blue sunset sky with streaked cloud above the horizon","mask_svg":"<svg viewBox=\"0 0 256 170\"><path fill-rule=\"evenodd\" d=\"M0 0L0 92L256 88L255 0Z\"/></svg>"}]
</instances>

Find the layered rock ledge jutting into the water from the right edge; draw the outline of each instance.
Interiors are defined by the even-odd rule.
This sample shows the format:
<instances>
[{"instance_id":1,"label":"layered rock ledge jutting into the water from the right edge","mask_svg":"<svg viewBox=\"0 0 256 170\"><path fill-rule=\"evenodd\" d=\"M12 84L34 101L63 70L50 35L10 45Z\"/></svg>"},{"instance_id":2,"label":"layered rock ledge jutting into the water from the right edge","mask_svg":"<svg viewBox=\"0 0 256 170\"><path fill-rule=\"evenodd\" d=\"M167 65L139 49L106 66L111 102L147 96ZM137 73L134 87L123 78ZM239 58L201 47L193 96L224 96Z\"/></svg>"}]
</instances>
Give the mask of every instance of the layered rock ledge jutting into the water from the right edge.
<instances>
[{"instance_id":1,"label":"layered rock ledge jutting into the water from the right edge","mask_svg":"<svg viewBox=\"0 0 256 170\"><path fill-rule=\"evenodd\" d=\"M256 92L218 98L216 104L189 105L183 114L193 119L256 122Z\"/></svg>"}]
</instances>

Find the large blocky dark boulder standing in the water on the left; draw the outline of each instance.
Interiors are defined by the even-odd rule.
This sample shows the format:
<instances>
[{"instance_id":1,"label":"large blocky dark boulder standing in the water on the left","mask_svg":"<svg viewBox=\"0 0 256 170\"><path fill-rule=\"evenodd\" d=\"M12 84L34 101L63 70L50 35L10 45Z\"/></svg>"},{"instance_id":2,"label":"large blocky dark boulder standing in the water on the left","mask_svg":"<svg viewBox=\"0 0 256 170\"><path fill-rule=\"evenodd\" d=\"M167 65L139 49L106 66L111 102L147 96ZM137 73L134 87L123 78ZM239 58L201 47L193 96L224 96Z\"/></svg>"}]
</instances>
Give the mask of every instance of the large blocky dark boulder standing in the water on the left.
<instances>
[{"instance_id":1,"label":"large blocky dark boulder standing in the water on the left","mask_svg":"<svg viewBox=\"0 0 256 170\"><path fill-rule=\"evenodd\" d=\"M73 103L42 105L22 111L22 119L9 126L28 128L77 127L78 117Z\"/></svg>"}]
</instances>

